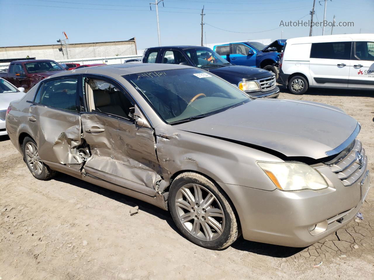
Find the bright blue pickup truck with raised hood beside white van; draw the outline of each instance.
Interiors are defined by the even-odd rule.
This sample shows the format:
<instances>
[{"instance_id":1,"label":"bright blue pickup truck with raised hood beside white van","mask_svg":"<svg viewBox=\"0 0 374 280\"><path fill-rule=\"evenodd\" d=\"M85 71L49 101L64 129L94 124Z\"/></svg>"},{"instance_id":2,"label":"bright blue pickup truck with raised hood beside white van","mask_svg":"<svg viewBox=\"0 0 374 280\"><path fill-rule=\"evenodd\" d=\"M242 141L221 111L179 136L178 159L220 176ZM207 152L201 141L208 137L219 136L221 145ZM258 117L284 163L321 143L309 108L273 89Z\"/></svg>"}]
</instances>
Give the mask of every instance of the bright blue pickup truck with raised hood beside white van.
<instances>
[{"instance_id":1,"label":"bright blue pickup truck with raised hood beside white van","mask_svg":"<svg viewBox=\"0 0 374 280\"><path fill-rule=\"evenodd\" d=\"M276 40L268 46L259 42L239 42L214 46L213 50L230 63L262 68L278 78L280 52L285 42Z\"/></svg>"}]
</instances>

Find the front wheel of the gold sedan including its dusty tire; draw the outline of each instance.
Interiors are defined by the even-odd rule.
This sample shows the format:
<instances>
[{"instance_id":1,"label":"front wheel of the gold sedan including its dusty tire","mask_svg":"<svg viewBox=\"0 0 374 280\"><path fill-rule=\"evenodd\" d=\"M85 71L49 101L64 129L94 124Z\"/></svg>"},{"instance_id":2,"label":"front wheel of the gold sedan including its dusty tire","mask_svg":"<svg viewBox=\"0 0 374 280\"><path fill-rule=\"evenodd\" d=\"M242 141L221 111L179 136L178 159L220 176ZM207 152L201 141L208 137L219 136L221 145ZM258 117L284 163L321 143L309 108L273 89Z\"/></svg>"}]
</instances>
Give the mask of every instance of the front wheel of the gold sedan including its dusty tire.
<instances>
[{"instance_id":1,"label":"front wheel of the gold sedan including its dusty tire","mask_svg":"<svg viewBox=\"0 0 374 280\"><path fill-rule=\"evenodd\" d=\"M239 219L229 198L219 186L200 174L178 175L170 186L168 202L178 229L196 245L220 250L229 247L241 234Z\"/></svg>"}]
</instances>

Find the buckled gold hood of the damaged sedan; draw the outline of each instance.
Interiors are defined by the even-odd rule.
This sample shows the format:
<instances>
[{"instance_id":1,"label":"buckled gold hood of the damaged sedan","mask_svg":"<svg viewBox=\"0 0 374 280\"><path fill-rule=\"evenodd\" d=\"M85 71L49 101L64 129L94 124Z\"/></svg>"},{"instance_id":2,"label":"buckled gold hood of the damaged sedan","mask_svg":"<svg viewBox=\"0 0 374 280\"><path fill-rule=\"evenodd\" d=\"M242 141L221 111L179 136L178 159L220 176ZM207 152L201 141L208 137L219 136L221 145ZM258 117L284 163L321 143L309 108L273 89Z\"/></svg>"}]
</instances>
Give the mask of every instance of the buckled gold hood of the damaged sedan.
<instances>
[{"instance_id":1,"label":"buckled gold hood of the damaged sedan","mask_svg":"<svg viewBox=\"0 0 374 280\"><path fill-rule=\"evenodd\" d=\"M283 159L321 159L347 140L357 126L358 122L340 109L322 103L255 99L174 127L270 149L276 151L277 156L278 153L284 155Z\"/></svg>"}]
</instances>

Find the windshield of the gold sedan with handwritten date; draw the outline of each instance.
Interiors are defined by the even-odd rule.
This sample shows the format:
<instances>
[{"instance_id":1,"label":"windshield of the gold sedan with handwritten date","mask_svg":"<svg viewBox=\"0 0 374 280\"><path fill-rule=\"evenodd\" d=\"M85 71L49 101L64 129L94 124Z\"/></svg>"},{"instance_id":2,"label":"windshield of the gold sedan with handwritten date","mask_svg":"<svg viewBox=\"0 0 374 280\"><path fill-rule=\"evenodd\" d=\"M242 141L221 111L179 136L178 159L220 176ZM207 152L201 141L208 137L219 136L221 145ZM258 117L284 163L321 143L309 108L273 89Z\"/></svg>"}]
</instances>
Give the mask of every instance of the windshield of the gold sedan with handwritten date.
<instances>
[{"instance_id":1,"label":"windshield of the gold sedan with handwritten date","mask_svg":"<svg viewBox=\"0 0 374 280\"><path fill-rule=\"evenodd\" d=\"M205 71L188 68L123 75L167 123L191 121L251 99Z\"/></svg>"}]
</instances>

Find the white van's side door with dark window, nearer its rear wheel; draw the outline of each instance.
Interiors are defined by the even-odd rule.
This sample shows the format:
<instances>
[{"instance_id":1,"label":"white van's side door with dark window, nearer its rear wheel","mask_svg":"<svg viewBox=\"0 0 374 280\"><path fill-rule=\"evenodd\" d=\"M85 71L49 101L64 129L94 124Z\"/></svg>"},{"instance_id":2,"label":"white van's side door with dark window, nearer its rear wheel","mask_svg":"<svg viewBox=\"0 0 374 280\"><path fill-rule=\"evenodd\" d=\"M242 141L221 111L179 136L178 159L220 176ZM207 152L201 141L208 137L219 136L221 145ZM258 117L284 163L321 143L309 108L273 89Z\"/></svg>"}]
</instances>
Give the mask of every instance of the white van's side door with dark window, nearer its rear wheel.
<instances>
[{"instance_id":1,"label":"white van's side door with dark window, nearer its rear wheel","mask_svg":"<svg viewBox=\"0 0 374 280\"><path fill-rule=\"evenodd\" d=\"M343 40L312 43L309 71L313 86L348 87L352 40Z\"/></svg>"}]
</instances>

